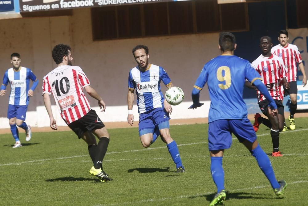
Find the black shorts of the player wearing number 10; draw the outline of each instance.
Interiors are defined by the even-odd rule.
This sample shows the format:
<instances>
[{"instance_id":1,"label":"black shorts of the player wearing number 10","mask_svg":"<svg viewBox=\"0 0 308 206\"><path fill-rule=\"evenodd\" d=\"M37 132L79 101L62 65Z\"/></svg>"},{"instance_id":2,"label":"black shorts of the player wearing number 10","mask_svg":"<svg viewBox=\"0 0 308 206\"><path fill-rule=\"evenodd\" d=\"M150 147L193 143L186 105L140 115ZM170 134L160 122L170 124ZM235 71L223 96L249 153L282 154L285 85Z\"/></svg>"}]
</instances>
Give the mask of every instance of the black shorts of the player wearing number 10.
<instances>
[{"instance_id":1,"label":"black shorts of the player wearing number 10","mask_svg":"<svg viewBox=\"0 0 308 206\"><path fill-rule=\"evenodd\" d=\"M83 136L84 132L92 132L95 129L105 127L104 123L99 119L93 109L91 109L85 116L72 122L68 126L75 132L79 139Z\"/></svg>"}]
</instances>

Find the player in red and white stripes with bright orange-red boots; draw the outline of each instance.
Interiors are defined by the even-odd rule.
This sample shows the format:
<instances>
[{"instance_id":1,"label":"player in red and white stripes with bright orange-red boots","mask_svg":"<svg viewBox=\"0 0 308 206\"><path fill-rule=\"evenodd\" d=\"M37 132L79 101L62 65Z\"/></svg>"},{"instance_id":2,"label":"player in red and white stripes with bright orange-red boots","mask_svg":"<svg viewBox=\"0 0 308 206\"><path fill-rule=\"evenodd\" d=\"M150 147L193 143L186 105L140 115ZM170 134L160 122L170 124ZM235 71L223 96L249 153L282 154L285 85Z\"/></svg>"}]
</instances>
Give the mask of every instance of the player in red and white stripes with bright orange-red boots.
<instances>
[{"instance_id":1,"label":"player in red and white stripes with bright orange-red boots","mask_svg":"<svg viewBox=\"0 0 308 206\"><path fill-rule=\"evenodd\" d=\"M276 102L278 115L273 116L268 112L267 107L269 106L269 101L265 99L260 91L258 91L259 107L268 119L261 117L259 113L255 114L255 123L253 124L253 127L255 131L257 131L259 124L263 123L271 129L270 134L273 142L272 156L278 157L282 156L279 151L279 131L282 131L284 123L284 106L282 104L284 92L282 84L284 84L286 88L289 88L289 84L286 80L285 65L281 58L271 53L272 46L272 39L269 36L261 37L260 48L262 54L253 61L251 65L257 70L257 72L259 72L263 83L267 87L271 97Z\"/></svg>"}]
</instances>

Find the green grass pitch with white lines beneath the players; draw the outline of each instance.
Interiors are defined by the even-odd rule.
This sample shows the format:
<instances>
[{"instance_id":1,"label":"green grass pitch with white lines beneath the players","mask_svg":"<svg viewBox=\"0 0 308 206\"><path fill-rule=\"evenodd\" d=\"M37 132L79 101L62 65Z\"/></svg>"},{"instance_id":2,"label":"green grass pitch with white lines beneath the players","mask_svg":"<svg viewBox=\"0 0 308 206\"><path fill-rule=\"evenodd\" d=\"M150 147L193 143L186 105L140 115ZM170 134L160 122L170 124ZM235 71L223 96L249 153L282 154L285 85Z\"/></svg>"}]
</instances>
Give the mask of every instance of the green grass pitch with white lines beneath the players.
<instances>
[{"instance_id":1,"label":"green grass pitch with white lines beneath the players","mask_svg":"<svg viewBox=\"0 0 308 206\"><path fill-rule=\"evenodd\" d=\"M272 158L278 180L288 183L277 198L257 162L237 140L223 159L225 205L308 205L308 118L296 130L281 133L283 157ZM186 173L175 173L165 144L142 147L137 128L109 129L111 141L104 170L114 180L98 182L88 174L87 145L73 132L33 133L30 142L12 149L1 135L0 205L209 205L216 186L210 175L207 124L171 126ZM23 134L22 134L23 135ZM22 136L21 135L21 136ZM272 152L270 131L261 125L258 141Z\"/></svg>"}]
</instances>

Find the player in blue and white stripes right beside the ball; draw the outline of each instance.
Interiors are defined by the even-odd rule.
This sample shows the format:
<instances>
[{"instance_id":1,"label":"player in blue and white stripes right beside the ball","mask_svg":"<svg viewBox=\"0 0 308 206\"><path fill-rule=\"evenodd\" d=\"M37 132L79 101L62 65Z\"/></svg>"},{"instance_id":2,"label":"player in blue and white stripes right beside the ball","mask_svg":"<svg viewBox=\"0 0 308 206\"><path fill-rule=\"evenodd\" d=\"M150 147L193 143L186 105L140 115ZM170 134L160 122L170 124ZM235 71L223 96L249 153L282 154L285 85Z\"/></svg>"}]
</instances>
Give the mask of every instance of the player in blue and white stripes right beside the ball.
<instances>
[{"instance_id":1,"label":"player in blue and white stripes right beside the ball","mask_svg":"<svg viewBox=\"0 0 308 206\"><path fill-rule=\"evenodd\" d=\"M144 147L149 147L160 135L167 144L169 153L176 164L176 172L185 172L179 149L169 132L169 113L172 107L164 99L160 91L160 82L163 81L168 88L172 87L171 79L166 71L150 64L147 46L137 45L132 50L138 66L132 68L128 75L128 124L134 124L132 108L134 103L134 90L137 94L139 115L139 136Z\"/></svg>"}]
</instances>

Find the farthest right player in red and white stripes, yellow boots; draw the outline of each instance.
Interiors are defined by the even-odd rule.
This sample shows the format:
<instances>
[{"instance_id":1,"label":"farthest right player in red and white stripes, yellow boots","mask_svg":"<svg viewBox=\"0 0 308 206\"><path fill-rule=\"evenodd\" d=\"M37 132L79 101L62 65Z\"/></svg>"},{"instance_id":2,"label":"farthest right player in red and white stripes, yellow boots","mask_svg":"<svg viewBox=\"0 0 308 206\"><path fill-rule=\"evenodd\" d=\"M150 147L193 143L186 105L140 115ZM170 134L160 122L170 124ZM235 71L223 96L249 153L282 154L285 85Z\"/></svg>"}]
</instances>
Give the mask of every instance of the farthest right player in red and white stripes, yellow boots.
<instances>
[{"instance_id":1,"label":"farthest right player in red and white stripes, yellow boots","mask_svg":"<svg viewBox=\"0 0 308 206\"><path fill-rule=\"evenodd\" d=\"M284 64L287 67L287 80L290 84L290 89L286 90L285 93L290 95L291 103L290 103L290 116L289 116L289 123L290 123L290 129L295 129L295 121L294 121L294 114L296 113L297 109L297 66L296 63L298 63L298 67L301 70L303 74L303 86L306 86L307 84L307 78L306 73L304 69L304 64L302 62L301 54L299 53L299 50L296 45L289 44L289 33L286 30L280 30L278 32L278 40L279 44L274 46L272 48L272 53L281 57ZM286 131L287 127L285 125L285 128L283 131Z\"/></svg>"}]
</instances>

